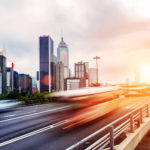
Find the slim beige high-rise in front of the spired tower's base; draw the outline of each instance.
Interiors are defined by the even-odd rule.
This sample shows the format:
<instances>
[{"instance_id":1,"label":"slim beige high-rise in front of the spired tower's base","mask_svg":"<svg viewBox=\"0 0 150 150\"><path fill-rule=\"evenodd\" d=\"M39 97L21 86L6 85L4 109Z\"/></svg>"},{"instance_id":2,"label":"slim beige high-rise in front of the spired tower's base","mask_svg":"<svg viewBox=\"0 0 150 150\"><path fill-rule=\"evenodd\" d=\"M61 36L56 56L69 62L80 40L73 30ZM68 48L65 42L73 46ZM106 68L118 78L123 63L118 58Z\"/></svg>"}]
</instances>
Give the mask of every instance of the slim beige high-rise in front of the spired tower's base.
<instances>
[{"instance_id":1,"label":"slim beige high-rise in front of the spired tower's base","mask_svg":"<svg viewBox=\"0 0 150 150\"><path fill-rule=\"evenodd\" d=\"M64 64L58 62L56 64L56 91L64 90Z\"/></svg>"}]
</instances>

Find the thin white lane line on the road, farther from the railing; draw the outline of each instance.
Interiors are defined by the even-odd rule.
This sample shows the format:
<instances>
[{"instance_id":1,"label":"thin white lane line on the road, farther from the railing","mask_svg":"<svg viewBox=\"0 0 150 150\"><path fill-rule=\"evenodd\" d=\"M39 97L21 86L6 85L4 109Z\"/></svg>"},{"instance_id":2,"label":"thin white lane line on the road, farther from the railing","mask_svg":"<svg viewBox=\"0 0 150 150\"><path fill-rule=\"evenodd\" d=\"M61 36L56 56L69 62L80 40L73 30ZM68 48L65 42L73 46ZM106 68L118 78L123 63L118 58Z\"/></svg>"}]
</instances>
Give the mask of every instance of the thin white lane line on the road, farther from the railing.
<instances>
[{"instance_id":1,"label":"thin white lane line on the road, farther from the railing","mask_svg":"<svg viewBox=\"0 0 150 150\"><path fill-rule=\"evenodd\" d=\"M67 108L67 107L69 108L70 106L64 106L64 107L60 107L60 108L57 108L57 109L55 108L55 109L45 110L45 111L42 111L42 112L28 114L28 115L25 115L25 116L19 116L19 117L15 117L15 118L6 119L6 120L0 120L0 123L7 122L7 121L12 121L12 120L16 120L16 119L21 119L21 118L25 118L25 117L30 117L30 116L34 116L34 115L39 115L39 114L43 114L43 113L47 113L47 112L53 112L53 111L56 111L56 110L62 110L62 109Z\"/></svg>"}]
</instances>

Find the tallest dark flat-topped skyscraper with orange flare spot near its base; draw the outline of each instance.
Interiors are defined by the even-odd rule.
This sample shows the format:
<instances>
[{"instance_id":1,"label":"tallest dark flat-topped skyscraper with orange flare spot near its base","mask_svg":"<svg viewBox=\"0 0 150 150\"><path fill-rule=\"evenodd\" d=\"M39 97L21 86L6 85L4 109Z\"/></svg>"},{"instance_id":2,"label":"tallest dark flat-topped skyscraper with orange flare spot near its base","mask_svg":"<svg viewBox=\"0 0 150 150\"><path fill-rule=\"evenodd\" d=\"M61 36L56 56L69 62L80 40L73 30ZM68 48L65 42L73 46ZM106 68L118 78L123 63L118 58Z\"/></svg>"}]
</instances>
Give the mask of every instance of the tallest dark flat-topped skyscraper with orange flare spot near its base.
<instances>
[{"instance_id":1,"label":"tallest dark flat-topped skyscraper with orange flare spot near its base","mask_svg":"<svg viewBox=\"0 0 150 150\"><path fill-rule=\"evenodd\" d=\"M40 51L40 92L54 91L55 64L54 64L54 42L49 36L39 38Z\"/></svg>"}]
</instances>

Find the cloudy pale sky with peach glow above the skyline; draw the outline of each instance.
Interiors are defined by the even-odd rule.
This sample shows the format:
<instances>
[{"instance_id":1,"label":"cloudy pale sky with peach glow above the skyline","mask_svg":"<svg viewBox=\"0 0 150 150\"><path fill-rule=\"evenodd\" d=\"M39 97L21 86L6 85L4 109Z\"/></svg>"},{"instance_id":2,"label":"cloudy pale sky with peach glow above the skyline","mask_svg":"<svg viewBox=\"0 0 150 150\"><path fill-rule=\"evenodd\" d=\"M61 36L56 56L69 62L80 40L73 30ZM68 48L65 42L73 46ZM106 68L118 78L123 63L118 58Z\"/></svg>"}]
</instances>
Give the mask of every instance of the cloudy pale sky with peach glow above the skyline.
<instances>
[{"instance_id":1,"label":"cloudy pale sky with peach glow above the skyline","mask_svg":"<svg viewBox=\"0 0 150 150\"><path fill-rule=\"evenodd\" d=\"M149 6L149 0L0 0L0 50L15 70L35 77L39 36L51 36L56 54L63 35L72 71L78 61L95 67L99 56L100 82L134 81L137 68L150 66Z\"/></svg>"}]
</instances>

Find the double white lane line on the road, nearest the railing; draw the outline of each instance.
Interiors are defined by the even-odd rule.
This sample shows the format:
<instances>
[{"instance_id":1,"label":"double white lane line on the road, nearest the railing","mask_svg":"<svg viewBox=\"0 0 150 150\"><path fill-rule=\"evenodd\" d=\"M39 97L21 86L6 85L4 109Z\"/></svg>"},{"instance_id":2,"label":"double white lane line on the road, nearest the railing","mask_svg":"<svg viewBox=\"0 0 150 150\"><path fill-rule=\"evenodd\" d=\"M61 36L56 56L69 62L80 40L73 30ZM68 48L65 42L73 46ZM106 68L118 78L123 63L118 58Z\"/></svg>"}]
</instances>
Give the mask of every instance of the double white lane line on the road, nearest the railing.
<instances>
[{"instance_id":1,"label":"double white lane line on the road, nearest the railing","mask_svg":"<svg viewBox=\"0 0 150 150\"><path fill-rule=\"evenodd\" d=\"M44 127L44 128L41 128L41 129L32 131L32 132L27 133L27 134L24 134L24 135L21 135L21 136L19 136L19 137L14 138L14 139L10 139L10 140L8 140L8 141L5 141L5 142L0 143L0 147L5 146L5 145L8 145L8 144L11 144L11 143L14 143L14 142L17 142L17 141L22 140L22 139L25 139L25 138L28 138L28 137L30 137L30 136L33 136L33 135L36 135L36 134L38 134L38 133L47 131L47 130L49 130L49 129L58 127L58 126L63 125L63 124L65 124L65 123L67 123L67 122L69 122L69 121L68 121L68 120L63 120L63 121L57 122L57 123L55 123L55 124L46 126L46 127Z\"/></svg>"}]
</instances>

